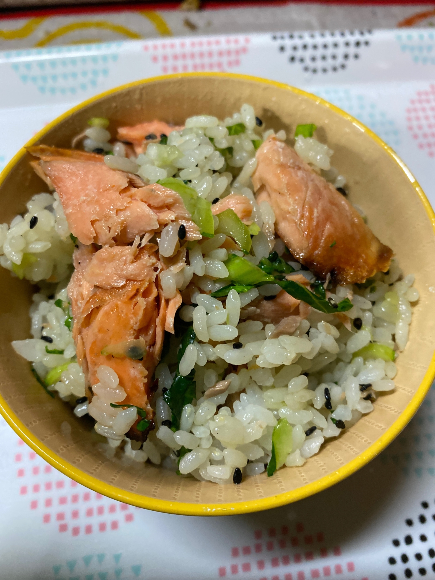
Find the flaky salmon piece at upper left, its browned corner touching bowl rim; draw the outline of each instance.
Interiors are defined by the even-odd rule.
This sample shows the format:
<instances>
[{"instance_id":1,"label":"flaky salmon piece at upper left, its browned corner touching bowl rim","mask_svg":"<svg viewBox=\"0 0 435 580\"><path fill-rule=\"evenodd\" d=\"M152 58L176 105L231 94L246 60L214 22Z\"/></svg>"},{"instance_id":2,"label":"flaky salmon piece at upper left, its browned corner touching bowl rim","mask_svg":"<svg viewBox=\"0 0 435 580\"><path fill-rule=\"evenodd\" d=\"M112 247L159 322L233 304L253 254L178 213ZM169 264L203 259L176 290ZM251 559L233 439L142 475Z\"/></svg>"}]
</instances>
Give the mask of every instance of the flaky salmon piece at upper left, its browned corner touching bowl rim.
<instances>
[{"instance_id":1,"label":"flaky salmon piece at upper left, its browned corner touching bowl rim","mask_svg":"<svg viewBox=\"0 0 435 580\"><path fill-rule=\"evenodd\" d=\"M35 172L57 191L71 233L84 245L129 244L137 235L171 220L186 227L186 240L200 240L179 194L146 186L132 173L110 169L103 155L39 145L28 152Z\"/></svg>"}]
</instances>

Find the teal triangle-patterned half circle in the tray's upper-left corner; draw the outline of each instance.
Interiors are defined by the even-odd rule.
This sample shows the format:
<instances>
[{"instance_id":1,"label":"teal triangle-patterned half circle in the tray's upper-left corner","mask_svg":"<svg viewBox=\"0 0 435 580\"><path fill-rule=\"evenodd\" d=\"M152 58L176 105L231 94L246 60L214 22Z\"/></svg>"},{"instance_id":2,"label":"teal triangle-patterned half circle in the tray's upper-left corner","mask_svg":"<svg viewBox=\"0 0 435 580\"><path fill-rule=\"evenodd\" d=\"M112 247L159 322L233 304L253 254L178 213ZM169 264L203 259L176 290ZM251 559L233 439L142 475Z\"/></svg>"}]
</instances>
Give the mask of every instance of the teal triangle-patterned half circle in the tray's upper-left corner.
<instances>
[{"instance_id":1,"label":"teal triangle-patterned half circle in the tray's upper-left corner","mask_svg":"<svg viewBox=\"0 0 435 580\"><path fill-rule=\"evenodd\" d=\"M14 61L10 66L24 85L34 86L42 95L74 97L95 92L110 73L111 65L117 62L119 54L114 48L121 45L119 42L14 50L4 56Z\"/></svg>"}]
</instances>

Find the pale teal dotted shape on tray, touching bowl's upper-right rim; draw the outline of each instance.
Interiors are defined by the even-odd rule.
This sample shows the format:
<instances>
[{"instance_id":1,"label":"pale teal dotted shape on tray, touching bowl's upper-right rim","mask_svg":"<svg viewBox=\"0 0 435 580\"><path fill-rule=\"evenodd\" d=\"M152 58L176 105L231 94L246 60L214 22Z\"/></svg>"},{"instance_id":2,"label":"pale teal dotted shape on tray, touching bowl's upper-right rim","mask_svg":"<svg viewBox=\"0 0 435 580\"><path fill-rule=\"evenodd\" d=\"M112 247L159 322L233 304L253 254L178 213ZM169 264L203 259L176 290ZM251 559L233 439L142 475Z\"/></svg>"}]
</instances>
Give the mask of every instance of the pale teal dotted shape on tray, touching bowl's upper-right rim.
<instances>
[{"instance_id":1,"label":"pale teal dotted shape on tray, touching bowl's upper-right rim","mask_svg":"<svg viewBox=\"0 0 435 580\"><path fill-rule=\"evenodd\" d=\"M356 117L390 147L400 146L400 131L395 122L367 96L343 88L323 88L314 92Z\"/></svg>"}]
</instances>

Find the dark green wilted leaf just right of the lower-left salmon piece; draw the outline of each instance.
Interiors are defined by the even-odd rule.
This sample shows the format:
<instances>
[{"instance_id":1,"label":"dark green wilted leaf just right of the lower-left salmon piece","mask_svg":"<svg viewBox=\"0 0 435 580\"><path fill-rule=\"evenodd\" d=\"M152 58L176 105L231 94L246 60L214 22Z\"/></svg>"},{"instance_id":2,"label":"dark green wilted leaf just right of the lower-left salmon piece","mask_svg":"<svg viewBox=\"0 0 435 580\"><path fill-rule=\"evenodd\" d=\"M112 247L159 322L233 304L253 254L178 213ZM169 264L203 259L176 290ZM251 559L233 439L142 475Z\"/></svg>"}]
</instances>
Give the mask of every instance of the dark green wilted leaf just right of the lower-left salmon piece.
<instances>
[{"instance_id":1,"label":"dark green wilted leaf just right of the lower-left salmon piece","mask_svg":"<svg viewBox=\"0 0 435 580\"><path fill-rule=\"evenodd\" d=\"M180 348L177 353L179 365L187 346L193 345L195 338L194 329L190 326L182 336ZM182 376L180 375L180 367L178 366L171 387L163 395L164 400L168 403L172 411L172 427L175 427L175 430L180 429L180 419L184 405L191 403L195 398L195 394L195 369L193 368L189 375Z\"/></svg>"}]
</instances>

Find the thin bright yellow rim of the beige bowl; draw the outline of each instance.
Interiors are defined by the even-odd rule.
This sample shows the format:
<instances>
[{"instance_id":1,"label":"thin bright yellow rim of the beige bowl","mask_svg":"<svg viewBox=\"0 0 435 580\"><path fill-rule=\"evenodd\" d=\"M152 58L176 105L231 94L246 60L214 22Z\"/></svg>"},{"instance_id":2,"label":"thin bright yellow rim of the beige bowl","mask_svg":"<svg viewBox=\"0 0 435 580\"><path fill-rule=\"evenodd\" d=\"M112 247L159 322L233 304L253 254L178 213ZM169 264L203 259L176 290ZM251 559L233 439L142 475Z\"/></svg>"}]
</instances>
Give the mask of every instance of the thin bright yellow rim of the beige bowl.
<instances>
[{"instance_id":1,"label":"thin bright yellow rim of the beige bowl","mask_svg":"<svg viewBox=\"0 0 435 580\"><path fill-rule=\"evenodd\" d=\"M34 143L36 143L41 137L45 135L50 129L54 128L60 121L63 121L71 114L76 113L77 111L81 110L88 104L91 104L102 97L106 97L108 95L113 95L121 90L125 90L128 88L132 88L133 86L139 86L143 84L147 84L150 82L161 81L166 79L176 79L176 78L186 78L186 77L220 77L220 78L237 78L246 81L255 81L260 82L262 84L276 86L280 89L289 90L296 95L301 95L307 97L310 100L315 101L318 104L322 104L325 107L328 107L335 113L338 113L341 117L345 118L347 121L350 121L353 125L355 125L361 132L367 133L386 153L391 157L391 159L396 162L396 164L400 167L400 169L405 173L409 182L411 182L412 187L414 187L416 195L418 195L420 201L425 208L428 218L432 223L432 229L435 234L435 213L432 209L432 206L427 200L425 193L423 192L422 188L420 187L419 183L415 179L414 175L412 175L411 171L409 171L408 167L404 164L404 162L398 157L398 155L393 151L393 149L388 146L385 142L383 142L380 137L378 137L371 129L363 125L360 121L354 118L349 113L346 113L339 107L336 107L332 103L328 103L321 97L313 95L312 93L308 93L305 90L298 89L294 86L284 84L282 82L277 81L270 81L269 79L264 79L260 77L253 77L252 75L243 75L243 74L234 74L234 73L180 73L180 74L171 74L171 75L161 75L158 77L151 77L142 79L140 81L129 82L125 85L117 86L113 89L106 90L103 93L99 93L99 95L93 96L90 99L85 100L84 102L76 105L73 108L70 108L66 113L63 113L59 117L57 117L54 121L50 122L48 125L41 129L32 139L30 139L23 147L20 148L18 153L14 155L12 160L9 161L8 165L6 165L5 169L3 169L2 173L0 174L0 186L9 173L12 171L13 167L17 164L17 162L26 154L26 147L30 147ZM433 379L435 376L435 352L432 356L432 360L430 361L429 367L427 368L426 374L423 377L420 386L415 391L414 396L412 397L411 401L409 401L405 410L401 413L399 418L391 425L386 432L380 436L374 443L366 449L366 451L362 452L358 455L355 459L352 459L350 462L346 463L343 467L339 467L335 472L321 477L320 479L313 481L307 485L303 485L302 487L296 488L296 490L287 491L282 494L273 495L267 498L262 499L255 499L250 501L244 502L235 502L235 503L187 503L187 502L171 502L164 499L155 499L150 498L148 496L135 494L133 492L129 492L126 490L121 490L120 488L115 487L114 485L109 485L100 481L96 477L90 476L81 469L77 469L77 467L72 466L70 463L56 455L51 449L46 447L41 441L38 440L37 437L34 436L30 432L29 429L21 422L19 418L14 414L12 409L6 403L5 399L0 394L0 414L5 418L6 422L9 423L10 427L14 430L21 437L21 439L27 443L38 455L40 455L46 462L50 463L53 467L59 470L64 475L70 477L71 479L77 481L78 483L85 485L85 487L90 488L93 491L96 491L102 495L110 497L112 499L116 499L117 501L126 502L131 505L135 505L137 507L144 507L146 509L154 510L155 512L164 512L164 513L173 513L179 515L186 515L186 516L226 516L232 514L241 514L241 513L251 513L251 512L258 512L260 510L271 509L273 507L279 507L282 505L286 505L288 503L292 503L298 501L299 499L307 498L310 495L316 494L319 491L325 490L331 485L338 483L339 481L349 477L352 473L356 472L358 469L361 469L366 463L371 461L378 455L387 445L393 441L395 437L404 429L407 425L409 420L412 419L415 412L419 408L420 404L425 398L427 391L430 389L432 385Z\"/></svg>"}]
</instances>

